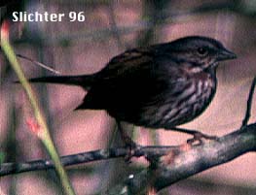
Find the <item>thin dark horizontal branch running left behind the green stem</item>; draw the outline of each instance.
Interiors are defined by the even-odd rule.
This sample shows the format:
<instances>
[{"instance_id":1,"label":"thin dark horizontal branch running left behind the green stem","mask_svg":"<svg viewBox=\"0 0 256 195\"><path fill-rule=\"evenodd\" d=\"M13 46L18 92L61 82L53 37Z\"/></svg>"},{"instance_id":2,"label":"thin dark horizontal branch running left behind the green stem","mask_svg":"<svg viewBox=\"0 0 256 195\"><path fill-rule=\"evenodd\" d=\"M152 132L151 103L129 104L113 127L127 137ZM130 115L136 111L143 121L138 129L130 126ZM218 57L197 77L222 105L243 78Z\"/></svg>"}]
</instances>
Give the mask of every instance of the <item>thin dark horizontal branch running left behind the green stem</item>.
<instances>
[{"instance_id":1,"label":"thin dark horizontal branch running left behind the green stem","mask_svg":"<svg viewBox=\"0 0 256 195\"><path fill-rule=\"evenodd\" d=\"M136 149L132 153L133 157L140 156L163 156L170 150L177 152L178 146L143 146ZM62 156L60 158L63 166L77 165L81 163L88 163L97 160L106 160L111 158L125 157L128 155L126 147L98 149L89 152L77 153L73 155ZM40 171L47 169L54 169L52 160L35 160L25 163L3 163L0 165L0 176L7 176L12 174L19 174L30 171Z\"/></svg>"}]
</instances>

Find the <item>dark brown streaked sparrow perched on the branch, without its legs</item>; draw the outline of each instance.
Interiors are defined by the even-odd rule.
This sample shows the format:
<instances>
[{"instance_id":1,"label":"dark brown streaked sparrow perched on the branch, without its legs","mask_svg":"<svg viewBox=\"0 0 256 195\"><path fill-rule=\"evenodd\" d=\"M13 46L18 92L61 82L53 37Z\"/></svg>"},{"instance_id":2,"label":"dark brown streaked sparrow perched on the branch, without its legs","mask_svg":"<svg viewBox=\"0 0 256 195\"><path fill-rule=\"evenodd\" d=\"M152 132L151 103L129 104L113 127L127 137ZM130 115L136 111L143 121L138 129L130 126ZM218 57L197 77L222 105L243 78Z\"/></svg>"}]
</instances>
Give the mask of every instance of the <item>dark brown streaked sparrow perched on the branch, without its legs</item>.
<instances>
[{"instance_id":1,"label":"dark brown streaked sparrow perched on the branch, without its legs","mask_svg":"<svg viewBox=\"0 0 256 195\"><path fill-rule=\"evenodd\" d=\"M80 85L88 90L77 109L106 110L120 121L171 130L200 115L216 91L218 62L236 54L211 38L191 36L128 49L91 75L29 81Z\"/></svg>"}]
</instances>

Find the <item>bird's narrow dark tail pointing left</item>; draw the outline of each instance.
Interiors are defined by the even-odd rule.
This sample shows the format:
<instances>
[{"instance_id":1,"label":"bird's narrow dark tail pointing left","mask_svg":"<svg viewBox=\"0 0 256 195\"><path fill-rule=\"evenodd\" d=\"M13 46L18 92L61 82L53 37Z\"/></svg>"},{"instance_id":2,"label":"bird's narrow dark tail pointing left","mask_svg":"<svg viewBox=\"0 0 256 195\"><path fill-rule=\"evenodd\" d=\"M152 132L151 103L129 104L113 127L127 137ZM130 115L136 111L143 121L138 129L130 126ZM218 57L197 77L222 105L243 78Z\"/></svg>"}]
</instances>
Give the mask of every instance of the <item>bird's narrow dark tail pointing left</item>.
<instances>
[{"instance_id":1,"label":"bird's narrow dark tail pointing left","mask_svg":"<svg viewBox=\"0 0 256 195\"><path fill-rule=\"evenodd\" d=\"M81 76L52 76L52 77L43 77L43 78L33 78L33 79L29 79L28 81L79 85L88 89L90 88L93 81L95 81L95 74L81 75Z\"/></svg>"}]
</instances>

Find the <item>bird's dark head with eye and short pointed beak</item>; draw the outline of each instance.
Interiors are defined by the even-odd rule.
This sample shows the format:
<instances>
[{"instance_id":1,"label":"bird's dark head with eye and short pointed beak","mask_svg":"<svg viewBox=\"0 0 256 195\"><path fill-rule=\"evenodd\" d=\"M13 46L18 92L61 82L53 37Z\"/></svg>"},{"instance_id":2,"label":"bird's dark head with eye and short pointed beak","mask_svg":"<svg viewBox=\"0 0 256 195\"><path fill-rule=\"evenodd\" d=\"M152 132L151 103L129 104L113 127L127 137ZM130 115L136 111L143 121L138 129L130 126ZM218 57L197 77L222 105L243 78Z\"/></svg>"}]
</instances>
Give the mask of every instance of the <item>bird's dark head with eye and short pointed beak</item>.
<instances>
[{"instance_id":1,"label":"bird's dark head with eye and short pointed beak","mask_svg":"<svg viewBox=\"0 0 256 195\"><path fill-rule=\"evenodd\" d=\"M185 37L171 42L170 45L173 57L186 63L194 72L215 68L219 61L237 57L219 41L207 37Z\"/></svg>"}]
</instances>

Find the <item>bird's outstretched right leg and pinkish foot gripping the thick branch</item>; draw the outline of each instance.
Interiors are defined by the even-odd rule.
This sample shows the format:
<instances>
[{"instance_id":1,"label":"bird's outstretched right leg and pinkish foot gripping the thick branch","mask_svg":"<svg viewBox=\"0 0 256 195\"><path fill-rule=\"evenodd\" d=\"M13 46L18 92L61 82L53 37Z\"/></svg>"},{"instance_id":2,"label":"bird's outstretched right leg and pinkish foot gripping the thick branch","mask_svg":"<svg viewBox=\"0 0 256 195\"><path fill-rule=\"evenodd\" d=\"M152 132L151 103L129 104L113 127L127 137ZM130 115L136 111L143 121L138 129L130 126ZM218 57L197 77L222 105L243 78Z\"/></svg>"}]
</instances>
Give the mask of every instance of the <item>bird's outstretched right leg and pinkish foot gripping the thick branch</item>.
<instances>
[{"instance_id":1,"label":"bird's outstretched right leg and pinkish foot gripping the thick branch","mask_svg":"<svg viewBox=\"0 0 256 195\"><path fill-rule=\"evenodd\" d=\"M191 130L191 129L184 129L184 128L179 128L179 127L173 127L171 128L172 131L178 131L178 132L182 132L182 133L186 133L186 134L190 134L193 135L192 139L189 139L187 141L188 144L195 144L196 142L199 142L200 145L202 144L202 138L205 140L217 140L218 137L217 136L209 136L207 134L203 134L200 131L196 131L196 130Z\"/></svg>"}]
</instances>

